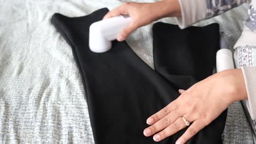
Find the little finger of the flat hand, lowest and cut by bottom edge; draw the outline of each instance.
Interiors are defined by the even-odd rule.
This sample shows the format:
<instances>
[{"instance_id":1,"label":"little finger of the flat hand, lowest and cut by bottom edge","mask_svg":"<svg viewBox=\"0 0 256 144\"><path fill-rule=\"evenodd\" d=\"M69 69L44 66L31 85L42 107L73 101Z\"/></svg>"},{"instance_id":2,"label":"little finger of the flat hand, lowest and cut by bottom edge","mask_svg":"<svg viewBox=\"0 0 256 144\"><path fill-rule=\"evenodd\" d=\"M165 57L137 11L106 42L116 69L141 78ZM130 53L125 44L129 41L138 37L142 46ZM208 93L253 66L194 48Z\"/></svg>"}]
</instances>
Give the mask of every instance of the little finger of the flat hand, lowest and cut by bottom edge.
<instances>
[{"instance_id":1,"label":"little finger of the flat hand, lowest and cut by bottom edge","mask_svg":"<svg viewBox=\"0 0 256 144\"><path fill-rule=\"evenodd\" d=\"M176 141L176 144L183 144L186 143L191 137L197 134L200 130L205 128L205 123L203 121L197 120L193 124L189 126L189 128L185 131L185 133L179 137Z\"/></svg>"}]
</instances>

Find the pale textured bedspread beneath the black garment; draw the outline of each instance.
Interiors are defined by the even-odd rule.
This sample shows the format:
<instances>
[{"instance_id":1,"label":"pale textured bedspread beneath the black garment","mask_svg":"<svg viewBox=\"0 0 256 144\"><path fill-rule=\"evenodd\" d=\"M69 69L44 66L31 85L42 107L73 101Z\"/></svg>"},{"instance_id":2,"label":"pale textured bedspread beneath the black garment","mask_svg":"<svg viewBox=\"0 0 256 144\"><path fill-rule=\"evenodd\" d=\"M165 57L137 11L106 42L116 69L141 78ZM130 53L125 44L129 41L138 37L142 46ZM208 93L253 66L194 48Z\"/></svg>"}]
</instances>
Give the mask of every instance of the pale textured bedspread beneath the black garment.
<instances>
[{"instance_id":1,"label":"pale textured bedspread beneath the black garment","mask_svg":"<svg viewBox=\"0 0 256 144\"><path fill-rule=\"evenodd\" d=\"M72 50L49 20L54 13L83 16L103 7L113 9L121 3L0 0L0 143L94 143ZM246 7L242 5L197 25L220 23L232 49L240 36ZM170 18L161 21L175 23ZM127 42L153 68L151 29L152 25L139 28ZM239 102L229 107L223 140L253 143Z\"/></svg>"}]
</instances>

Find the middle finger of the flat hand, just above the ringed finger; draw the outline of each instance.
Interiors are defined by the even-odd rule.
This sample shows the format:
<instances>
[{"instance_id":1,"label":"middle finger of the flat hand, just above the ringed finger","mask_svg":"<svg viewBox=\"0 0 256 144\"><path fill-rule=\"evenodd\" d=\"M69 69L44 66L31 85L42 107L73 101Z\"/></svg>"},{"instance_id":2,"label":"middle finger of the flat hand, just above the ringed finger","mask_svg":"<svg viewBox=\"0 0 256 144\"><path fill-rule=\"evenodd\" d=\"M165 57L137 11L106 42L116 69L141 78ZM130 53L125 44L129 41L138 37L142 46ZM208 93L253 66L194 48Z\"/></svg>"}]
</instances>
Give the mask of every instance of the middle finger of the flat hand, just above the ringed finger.
<instances>
[{"instance_id":1,"label":"middle finger of the flat hand, just above the ringed finger","mask_svg":"<svg viewBox=\"0 0 256 144\"><path fill-rule=\"evenodd\" d=\"M152 136L158 131L165 129L166 127L174 123L179 117L181 117L179 113L177 111L173 111L164 118L162 118L160 121L145 129L143 133L145 136Z\"/></svg>"}]
</instances>

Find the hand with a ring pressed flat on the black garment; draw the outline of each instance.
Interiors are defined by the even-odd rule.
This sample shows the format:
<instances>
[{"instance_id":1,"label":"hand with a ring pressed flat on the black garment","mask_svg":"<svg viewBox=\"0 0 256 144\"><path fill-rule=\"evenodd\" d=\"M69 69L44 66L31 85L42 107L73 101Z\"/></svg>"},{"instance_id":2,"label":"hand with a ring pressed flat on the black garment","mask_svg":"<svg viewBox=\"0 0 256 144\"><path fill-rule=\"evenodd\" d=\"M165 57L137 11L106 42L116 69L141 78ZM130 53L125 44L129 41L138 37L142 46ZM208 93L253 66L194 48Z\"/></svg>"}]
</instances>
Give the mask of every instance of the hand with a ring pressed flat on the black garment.
<instances>
[{"instance_id":1,"label":"hand with a ring pressed flat on the black garment","mask_svg":"<svg viewBox=\"0 0 256 144\"><path fill-rule=\"evenodd\" d=\"M155 141L161 141L187 127L184 117L191 125L176 143L185 143L216 119L233 101L247 99L241 69L222 71L196 83L187 91L179 92L179 98L147 119L150 127L144 130L145 136L154 135Z\"/></svg>"}]
</instances>

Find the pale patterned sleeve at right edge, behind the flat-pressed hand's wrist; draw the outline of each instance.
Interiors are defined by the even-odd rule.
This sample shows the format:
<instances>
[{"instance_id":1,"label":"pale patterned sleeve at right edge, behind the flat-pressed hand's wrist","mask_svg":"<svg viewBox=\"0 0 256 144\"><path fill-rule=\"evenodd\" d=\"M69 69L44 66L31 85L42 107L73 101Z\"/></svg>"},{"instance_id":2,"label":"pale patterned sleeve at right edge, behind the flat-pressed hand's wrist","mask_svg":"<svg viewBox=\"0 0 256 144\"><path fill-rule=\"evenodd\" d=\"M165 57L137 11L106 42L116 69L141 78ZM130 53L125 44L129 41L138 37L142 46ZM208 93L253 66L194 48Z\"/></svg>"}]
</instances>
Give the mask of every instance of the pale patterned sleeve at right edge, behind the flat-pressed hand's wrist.
<instances>
[{"instance_id":1,"label":"pale patterned sleeve at right edge, behind the flat-pressed hand's wrist","mask_svg":"<svg viewBox=\"0 0 256 144\"><path fill-rule=\"evenodd\" d=\"M245 77L248 99L246 105L251 118L254 120L256 129L256 0L253 0L248 9L248 19L240 38L234 49L238 52L239 67L243 70Z\"/></svg>"}]
</instances>

